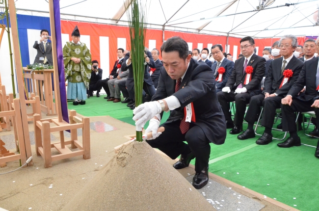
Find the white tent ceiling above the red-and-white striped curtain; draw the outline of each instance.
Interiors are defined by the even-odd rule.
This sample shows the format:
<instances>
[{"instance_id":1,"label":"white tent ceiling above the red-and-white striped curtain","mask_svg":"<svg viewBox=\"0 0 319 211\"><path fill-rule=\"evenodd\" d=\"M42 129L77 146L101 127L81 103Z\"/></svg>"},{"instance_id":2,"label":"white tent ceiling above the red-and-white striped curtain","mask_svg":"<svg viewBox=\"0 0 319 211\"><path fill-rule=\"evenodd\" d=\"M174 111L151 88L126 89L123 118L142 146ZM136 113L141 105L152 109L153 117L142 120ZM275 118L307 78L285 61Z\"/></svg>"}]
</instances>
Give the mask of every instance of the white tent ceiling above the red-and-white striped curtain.
<instances>
[{"instance_id":1,"label":"white tent ceiling above the red-and-white striped curtain","mask_svg":"<svg viewBox=\"0 0 319 211\"><path fill-rule=\"evenodd\" d=\"M141 2L147 8L149 28L253 37L319 35L315 26L319 0L266 0L267 6L260 11L256 9L259 0ZM123 0L60 0L61 19L127 26L123 4ZM16 8L25 15L48 16L49 11L47 0L17 0Z\"/></svg>"}]
</instances>

